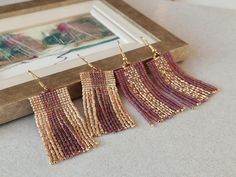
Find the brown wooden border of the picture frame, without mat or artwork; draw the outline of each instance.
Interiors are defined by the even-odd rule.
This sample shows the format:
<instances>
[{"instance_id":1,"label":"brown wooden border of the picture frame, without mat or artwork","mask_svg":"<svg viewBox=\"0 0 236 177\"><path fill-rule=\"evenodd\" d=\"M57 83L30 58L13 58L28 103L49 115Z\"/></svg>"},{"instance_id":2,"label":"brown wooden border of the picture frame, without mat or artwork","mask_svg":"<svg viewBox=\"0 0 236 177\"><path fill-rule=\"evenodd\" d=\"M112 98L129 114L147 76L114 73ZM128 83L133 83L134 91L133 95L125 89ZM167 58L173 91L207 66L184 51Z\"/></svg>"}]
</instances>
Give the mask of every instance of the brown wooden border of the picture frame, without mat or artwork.
<instances>
[{"instance_id":1,"label":"brown wooden border of the picture frame, without mat or artwork","mask_svg":"<svg viewBox=\"0 0 236 177\"><path fill-rule=\"evenodd\" d=\"M32 13L84 1L87 0L33 0L20 4L1 6L0 18ZM182 61L185 58L187 54L187 43L174 36L122 0L104 0L104 2L160 39L160 42L153 44L160 52L170 51L176 58L176 61ZM151 52L145 47L128 51L126 55L131 62L139 60L145 61L152 56ZM122 65L122 61L118 58L120 58L120 55L115 55L95 61L93 64L103 70L115 70ZM76 99L81 97L82 94L79 73L89 69L90 68L87 65L75 67L43 77L42 81L50 88L67 86L72 99ZM41 87L33 80L0 90L0 124L31 114L33 111L30 107L28 97L37 95L41 91Z\"/></svg>"}]
</instances>

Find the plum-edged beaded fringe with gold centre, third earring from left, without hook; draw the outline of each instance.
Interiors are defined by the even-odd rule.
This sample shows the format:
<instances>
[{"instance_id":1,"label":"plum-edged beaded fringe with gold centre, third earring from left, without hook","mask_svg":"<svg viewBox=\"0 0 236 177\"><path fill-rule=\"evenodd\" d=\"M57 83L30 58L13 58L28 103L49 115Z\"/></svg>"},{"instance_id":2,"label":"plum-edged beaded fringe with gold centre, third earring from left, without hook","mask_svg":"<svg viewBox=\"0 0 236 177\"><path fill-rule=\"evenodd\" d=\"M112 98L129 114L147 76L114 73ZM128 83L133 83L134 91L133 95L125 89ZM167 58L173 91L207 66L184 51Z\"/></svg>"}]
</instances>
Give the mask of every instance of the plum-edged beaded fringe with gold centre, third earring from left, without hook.
<instances>
[{"instance_id":1,"label":"plum-edged beaded fringe with gold centre, third earring from left, without hook","mask_svg":"<svg viewBox=\"0 0 236 177\"><path fill-rule=\"evenodd\" d=\"M125 96L151 125L184 110L183 106L162 95L155 88L143 63L128 65L117 70L115 74Z\"/></svg>"}]
</instances>

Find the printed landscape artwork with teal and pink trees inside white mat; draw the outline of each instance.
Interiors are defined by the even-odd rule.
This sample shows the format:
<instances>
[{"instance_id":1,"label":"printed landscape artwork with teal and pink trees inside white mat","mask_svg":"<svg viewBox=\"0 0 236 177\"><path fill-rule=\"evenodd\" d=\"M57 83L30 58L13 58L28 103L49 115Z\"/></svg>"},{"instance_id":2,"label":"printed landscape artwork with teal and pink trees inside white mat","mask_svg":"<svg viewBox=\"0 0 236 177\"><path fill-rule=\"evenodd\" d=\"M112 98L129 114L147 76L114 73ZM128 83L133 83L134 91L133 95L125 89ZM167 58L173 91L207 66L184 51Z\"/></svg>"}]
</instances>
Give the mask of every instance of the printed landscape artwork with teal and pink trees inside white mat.
<instances>
[{"instance_id":1,"label":"printed landscape artwork with teal and pink trees inside white mat","mask_svg":"<svg viewBox=\"0 0 236 177\"><path fill-rule=\"evenodd\" d=\"M117 40L90 14L0 35L0 68Z\"/></svg>"}]
</instances>

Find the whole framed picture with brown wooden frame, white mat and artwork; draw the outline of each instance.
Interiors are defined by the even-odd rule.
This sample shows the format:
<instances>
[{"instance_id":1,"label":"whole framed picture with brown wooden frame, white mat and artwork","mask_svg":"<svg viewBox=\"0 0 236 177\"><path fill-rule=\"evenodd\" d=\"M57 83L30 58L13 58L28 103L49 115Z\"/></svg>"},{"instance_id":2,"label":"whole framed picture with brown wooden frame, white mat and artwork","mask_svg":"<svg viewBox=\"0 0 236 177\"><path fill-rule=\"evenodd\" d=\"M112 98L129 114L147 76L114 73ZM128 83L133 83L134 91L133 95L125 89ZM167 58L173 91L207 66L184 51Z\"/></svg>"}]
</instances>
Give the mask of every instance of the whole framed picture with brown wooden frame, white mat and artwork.
<instances>
[{"instance_id":1,"label":"whole framed picture with brown wooden frame, white mat and artwork","mask_svg":"<svg viewBox=\"0 0 236 177\"><path fill-rule=\"evenodd\" d=\"M140 37L178 61L186 54L184 41L123 1L6 2L0 18L0 123L32 113L27 98L41 88L28 70L50 88L67 86L78 98L79 73L90 69L78 54L103 70L115 70L122 66L118 40L131 62L150 59Z\"/></svg>"}]
</instances>

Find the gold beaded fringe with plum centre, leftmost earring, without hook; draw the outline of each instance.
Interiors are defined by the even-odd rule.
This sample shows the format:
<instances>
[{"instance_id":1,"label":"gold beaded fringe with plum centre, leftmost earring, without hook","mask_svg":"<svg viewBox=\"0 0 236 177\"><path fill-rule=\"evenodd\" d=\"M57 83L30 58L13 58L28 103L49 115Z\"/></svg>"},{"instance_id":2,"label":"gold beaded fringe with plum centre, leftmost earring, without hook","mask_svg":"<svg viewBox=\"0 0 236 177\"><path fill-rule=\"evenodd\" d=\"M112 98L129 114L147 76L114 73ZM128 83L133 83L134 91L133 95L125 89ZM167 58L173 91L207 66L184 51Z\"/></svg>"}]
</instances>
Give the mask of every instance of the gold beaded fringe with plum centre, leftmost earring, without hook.
<instances>
[{"instance_id":1,"label":"gold beaded fringe with plum centre, leftmost earring, without hook","mask_svg":"<svg viewBox=\"0 0 236 177\"><path fill-rule=\"evenodd\" d=\"M88 151L96 145L67 88L46 90L29 100L50 164Z\"/></svg>"}]
</instances>

